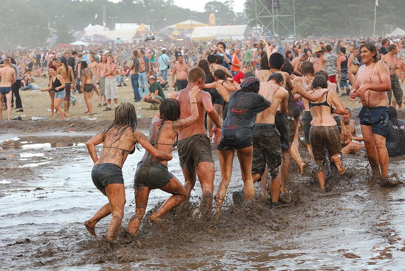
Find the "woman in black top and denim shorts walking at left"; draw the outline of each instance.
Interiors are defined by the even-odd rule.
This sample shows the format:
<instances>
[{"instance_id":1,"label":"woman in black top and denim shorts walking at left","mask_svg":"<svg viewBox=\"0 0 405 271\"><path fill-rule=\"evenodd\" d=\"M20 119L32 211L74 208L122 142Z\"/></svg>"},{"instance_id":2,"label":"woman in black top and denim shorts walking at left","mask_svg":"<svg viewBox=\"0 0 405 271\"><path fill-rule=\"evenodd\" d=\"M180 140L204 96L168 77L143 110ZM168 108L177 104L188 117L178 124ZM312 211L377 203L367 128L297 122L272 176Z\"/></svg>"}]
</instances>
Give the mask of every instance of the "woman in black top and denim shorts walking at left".
<instances>
[{"instance_id":1,"label":"woman in black top and denim shorts walking at left","mask_svg":"<svg viewBox=\"0 0 405 271\"><path fill-rule=\"evenodd\" d=\"M49 92L49 96L51 97L51 110L53 110L52 105L54 105L57 112L59 112L60 117L65 119L69 117L69 115L62 110L62 103L66 95L65 81L63 80L62 75L56 74L56 70L57 68L55 66L49 67L48 71L51 76L51 82L47 88L41 89L41 92ZM52 96L54 96L53 100ZM52 112L52 116L54 116L54 112Z\"/></svg>"}]
</instances>

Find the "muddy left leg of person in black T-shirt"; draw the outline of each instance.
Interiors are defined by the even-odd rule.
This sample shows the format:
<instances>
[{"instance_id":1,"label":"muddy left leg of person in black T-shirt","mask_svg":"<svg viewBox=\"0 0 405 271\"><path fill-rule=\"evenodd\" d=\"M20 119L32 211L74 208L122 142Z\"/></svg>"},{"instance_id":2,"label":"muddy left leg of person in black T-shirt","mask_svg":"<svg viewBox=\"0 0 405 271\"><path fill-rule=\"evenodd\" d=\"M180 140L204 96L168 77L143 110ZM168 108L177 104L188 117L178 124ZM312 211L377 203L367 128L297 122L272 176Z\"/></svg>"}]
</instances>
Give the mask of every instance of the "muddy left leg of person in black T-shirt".
<instances>
[{"instance_id":1,"label":"muddy left leg of person in black T-shirt","mask_svg":"<svg viewBox=\"0 0 405 271\"><path fill-rule=\"evenodd\" d=\"M215 218L219 217L222 203L225 200L226 190L228 189L228 185L231 180L234 155L235 151L229 148L224 149L222 151L218 150L219 165L221 167L221 183L219 184L217 190ZM251 160L251 170L252 170L252 160Z\"/></svg>"}]
</instances>

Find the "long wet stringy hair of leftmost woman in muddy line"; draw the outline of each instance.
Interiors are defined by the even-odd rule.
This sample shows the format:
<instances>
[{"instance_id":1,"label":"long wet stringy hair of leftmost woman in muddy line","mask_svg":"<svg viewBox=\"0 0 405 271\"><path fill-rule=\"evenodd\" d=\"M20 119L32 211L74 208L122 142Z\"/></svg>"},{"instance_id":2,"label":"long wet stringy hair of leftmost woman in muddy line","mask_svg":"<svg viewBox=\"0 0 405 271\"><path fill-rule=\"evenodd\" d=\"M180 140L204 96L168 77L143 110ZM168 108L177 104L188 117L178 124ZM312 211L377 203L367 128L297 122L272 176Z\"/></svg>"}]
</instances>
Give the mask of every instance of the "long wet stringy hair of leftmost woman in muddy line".
<instances>
[{"instance_id":1,"label":"long wet stringy hair of leftmost woman in muddy line","mask_svg":"<svg viewBox=\"0 0 405 271\"><path fill-rule=\"evenodd\" d=\"M117 132L114 134L117 140L128 129L134 131L138 125L135 107L131 103L121 103L115 108L115 117L111 126L102 131L103 138L105 134L112 128L116 128Z\"/></svg>"}]
</instances>

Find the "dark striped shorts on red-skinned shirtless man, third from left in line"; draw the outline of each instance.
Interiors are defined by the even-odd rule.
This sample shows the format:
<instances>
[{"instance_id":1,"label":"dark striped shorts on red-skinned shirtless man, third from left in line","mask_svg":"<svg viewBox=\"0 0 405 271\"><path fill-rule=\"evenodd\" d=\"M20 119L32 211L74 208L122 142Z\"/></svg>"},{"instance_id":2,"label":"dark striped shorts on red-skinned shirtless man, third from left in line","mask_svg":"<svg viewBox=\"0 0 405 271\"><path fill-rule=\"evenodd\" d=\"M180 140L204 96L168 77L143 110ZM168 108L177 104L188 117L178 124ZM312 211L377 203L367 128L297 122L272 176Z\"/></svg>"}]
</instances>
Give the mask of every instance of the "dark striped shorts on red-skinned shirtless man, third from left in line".
<instances>
[{"instance_id":1,"label":"dark striped shorts on red-skinned shirtless man, third from left in line","mask_svg":"<svg viewBox=\"0 0 405 271\"><path fill-rule=\"evenodd\" d=\"M206 134L197 133L179 140L177 143L180 166L186 170L195 170L198 163L214 163L210 140Z\"/></svg>"}]
</instances>

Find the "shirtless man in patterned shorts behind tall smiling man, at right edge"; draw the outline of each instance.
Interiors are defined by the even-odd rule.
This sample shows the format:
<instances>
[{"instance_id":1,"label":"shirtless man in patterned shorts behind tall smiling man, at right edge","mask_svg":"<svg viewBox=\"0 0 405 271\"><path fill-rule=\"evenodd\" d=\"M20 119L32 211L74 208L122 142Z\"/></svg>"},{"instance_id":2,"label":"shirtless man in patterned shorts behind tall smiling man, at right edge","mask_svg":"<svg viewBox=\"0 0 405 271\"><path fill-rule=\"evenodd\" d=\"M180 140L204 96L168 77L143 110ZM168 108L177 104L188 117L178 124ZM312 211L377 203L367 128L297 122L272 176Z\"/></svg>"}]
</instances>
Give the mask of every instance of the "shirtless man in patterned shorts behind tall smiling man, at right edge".
<instances>
[{"instance_id":1,"label":"shirtless man in patterned shorts behind tall smiling man, at right edge","mask_svg":"<svg viewBox=\"0 0 405 271\"><path fill-rule=\"evenodd\" d=\"M388 46L388 54L385 54L381 57L381 61L383 61L388 66L389 70L389 77L391 79L391 89L387 92L388 96L388 104L390 105L391 102L394 104L398 104L398 109L402 109L402 89L401 85L399 84L398 76L396 75L396 57L398 55L398 49L396 48L395 44L391 44ZM392 97L394 94L394 97ZM394 100L394 101L393 101Z\"/></svg>"}]
</instances>

